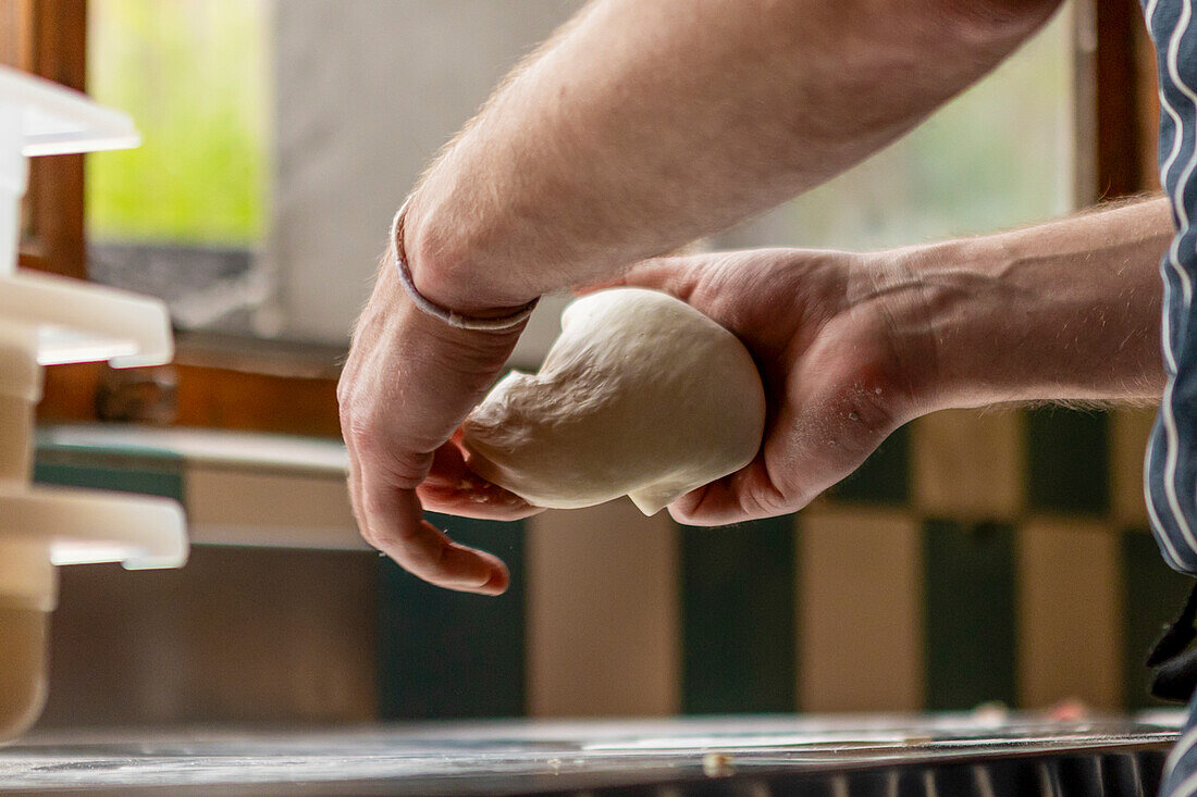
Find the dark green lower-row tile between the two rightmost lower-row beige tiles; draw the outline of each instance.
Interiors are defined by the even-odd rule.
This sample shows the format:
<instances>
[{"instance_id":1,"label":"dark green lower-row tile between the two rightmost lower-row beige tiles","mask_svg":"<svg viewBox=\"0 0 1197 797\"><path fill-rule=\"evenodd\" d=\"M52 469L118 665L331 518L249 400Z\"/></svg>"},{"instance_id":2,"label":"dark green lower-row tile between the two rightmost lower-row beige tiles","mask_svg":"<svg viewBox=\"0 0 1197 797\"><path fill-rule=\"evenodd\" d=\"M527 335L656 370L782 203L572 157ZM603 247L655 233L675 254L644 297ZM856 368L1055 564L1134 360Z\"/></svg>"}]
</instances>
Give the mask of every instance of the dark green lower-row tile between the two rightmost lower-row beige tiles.
<instances>
[{"instance_id":1,"label":"dark green lower-row tile between the two rightmost lower-row beige tiles","mask_svg":"<svg viewBox=\"0 0 1197 797\"><path fill-rule=\"evenodd\" d=\"M998 523L923 527L930 711L1015 705L1014 537Z\"/></svg>"}]
</instances>

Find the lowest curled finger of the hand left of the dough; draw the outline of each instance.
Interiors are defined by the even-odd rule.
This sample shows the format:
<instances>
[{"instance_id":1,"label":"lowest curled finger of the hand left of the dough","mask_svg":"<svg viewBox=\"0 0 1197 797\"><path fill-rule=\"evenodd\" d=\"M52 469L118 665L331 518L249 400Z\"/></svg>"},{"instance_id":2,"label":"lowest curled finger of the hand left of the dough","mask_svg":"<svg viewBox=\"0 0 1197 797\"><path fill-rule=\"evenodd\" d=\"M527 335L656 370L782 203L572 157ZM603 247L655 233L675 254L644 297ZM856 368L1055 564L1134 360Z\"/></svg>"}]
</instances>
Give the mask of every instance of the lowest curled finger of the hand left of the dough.
<instances>
[{"instance_id":1,"label":"lowest curled finger of the hand left of the dough","mask_svg":"<svg viewBox=\"0 0 1197 797\"><path fill-rule=\"evenodd\" d=\"M412 574L463 592L506 590L510 574L503 561L457 544L425 521L414 491L363 474L361 507L366 539Z\"/></svg>"}]
</instances>

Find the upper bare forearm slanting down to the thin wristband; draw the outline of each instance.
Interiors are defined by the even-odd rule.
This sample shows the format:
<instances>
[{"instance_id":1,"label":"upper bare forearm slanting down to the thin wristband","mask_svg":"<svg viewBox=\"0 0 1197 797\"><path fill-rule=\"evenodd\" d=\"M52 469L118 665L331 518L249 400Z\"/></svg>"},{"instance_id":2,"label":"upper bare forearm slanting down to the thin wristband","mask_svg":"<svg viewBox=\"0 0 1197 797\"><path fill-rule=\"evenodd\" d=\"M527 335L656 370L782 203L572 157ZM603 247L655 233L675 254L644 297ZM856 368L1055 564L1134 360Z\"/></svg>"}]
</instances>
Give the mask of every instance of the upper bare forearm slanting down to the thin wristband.
<instances>
[{"instance_id":1,"label":"upper bare forearm slanting down to the thin wristband","mask_svg":"<svg viewBox=\"0 0 1197 797\"><path fill-rule=\"evenodd\" d=\"M910 129L1056 4L594 2L419 185L415 281L516 305L723 229Z\"/></svg>"}]
</instances>

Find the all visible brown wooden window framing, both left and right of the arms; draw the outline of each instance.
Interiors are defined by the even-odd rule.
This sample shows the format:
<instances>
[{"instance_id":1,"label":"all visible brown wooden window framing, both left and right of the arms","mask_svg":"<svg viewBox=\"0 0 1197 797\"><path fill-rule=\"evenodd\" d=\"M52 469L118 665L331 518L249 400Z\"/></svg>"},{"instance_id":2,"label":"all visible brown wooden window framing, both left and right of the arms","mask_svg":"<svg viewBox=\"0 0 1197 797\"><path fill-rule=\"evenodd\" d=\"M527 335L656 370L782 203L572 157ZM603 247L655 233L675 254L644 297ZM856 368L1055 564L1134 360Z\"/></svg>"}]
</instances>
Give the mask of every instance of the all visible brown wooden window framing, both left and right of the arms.
<instances>
[{"instance_id":1,"label":"all visible brown wooden window framing, both left and right of the arms","mask_svg":"<svg viewBox=\"0 0 1197 797\"><path fill-rule=\"evenodd\" d=\"M1076 1L1076 199L1083 206L1157 188L1159 110L1137 0ZM83 90L86 23L86 0L0 0L0 61ZM20 264L86 279L81 157L34 164ZM342 354L181 334L176 363L159 381L170 387L178 425L335 437ZM111 381L102 364L49 369L40 418L97 420L98 394Z\"/></svg>"}]
</instances>

